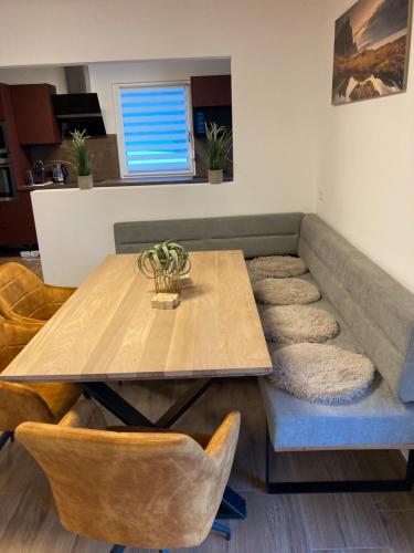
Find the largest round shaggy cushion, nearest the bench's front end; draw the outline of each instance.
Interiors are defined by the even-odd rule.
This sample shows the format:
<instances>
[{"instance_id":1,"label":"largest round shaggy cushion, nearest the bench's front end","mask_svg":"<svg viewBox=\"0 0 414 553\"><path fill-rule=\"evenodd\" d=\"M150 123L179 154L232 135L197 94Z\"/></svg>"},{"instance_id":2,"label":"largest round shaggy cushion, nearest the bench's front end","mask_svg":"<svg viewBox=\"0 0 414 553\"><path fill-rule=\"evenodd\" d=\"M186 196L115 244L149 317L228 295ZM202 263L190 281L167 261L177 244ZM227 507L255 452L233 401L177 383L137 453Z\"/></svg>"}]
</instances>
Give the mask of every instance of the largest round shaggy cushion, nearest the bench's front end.
<instances>
[{"instance_id":1,"label":"largest round shaggy cushion, nearest the bench's front end","mask_svg":"<svg viewBox=\"0 0 414 553\"><path fill-rule=\"evenodd\" d=\"M295 344L272 355L270 383L309 401L347 401L371 384L374 366L364 355L325 344Z\"/></svg>"}]
</instances>

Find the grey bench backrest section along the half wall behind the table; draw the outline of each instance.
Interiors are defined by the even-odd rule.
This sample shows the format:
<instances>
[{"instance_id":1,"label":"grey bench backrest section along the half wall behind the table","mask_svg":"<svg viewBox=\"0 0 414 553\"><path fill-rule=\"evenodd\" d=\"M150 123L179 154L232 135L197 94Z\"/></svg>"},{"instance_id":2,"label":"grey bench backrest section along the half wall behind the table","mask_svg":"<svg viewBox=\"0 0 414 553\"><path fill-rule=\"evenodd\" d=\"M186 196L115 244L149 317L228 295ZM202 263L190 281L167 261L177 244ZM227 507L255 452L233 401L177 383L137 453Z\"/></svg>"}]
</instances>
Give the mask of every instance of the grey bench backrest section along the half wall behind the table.
<instances>
[{"instance_id":1,"label":"grey bench backrest section along the half wall behind the table","mask_svg":"<svg viewBox=\"0 0 414 553\"><path fill-rule=\"evenodd\" d=\"M257 255L296 254L304 213L274 213L209 219L117 222L117 253L136 253L156 242L178 240L190 251L243 250Z\"/></svg>"}]
</instances>

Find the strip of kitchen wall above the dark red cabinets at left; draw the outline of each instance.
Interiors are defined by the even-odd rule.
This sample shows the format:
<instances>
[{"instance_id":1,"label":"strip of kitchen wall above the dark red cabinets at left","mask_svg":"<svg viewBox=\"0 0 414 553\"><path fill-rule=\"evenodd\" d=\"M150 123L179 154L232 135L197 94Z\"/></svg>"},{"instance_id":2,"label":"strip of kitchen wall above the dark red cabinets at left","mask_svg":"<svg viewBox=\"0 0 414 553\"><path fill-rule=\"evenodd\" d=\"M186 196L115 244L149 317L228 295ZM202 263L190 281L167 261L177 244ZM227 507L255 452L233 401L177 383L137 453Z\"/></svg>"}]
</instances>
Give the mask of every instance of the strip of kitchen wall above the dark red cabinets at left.
<instances>
[{"instance_id":1,"label":"strip of kitchen wall above the dark red cabinets at left","mask_svg":"<svg viewBox=\"0 0 414 553\"><path fill-rule=\"evenodd\" d=\"M65 94L67 92L63 67L0 67L0 83L47 83L56 86L57 94Z\"/></svg>"}]
</instances>

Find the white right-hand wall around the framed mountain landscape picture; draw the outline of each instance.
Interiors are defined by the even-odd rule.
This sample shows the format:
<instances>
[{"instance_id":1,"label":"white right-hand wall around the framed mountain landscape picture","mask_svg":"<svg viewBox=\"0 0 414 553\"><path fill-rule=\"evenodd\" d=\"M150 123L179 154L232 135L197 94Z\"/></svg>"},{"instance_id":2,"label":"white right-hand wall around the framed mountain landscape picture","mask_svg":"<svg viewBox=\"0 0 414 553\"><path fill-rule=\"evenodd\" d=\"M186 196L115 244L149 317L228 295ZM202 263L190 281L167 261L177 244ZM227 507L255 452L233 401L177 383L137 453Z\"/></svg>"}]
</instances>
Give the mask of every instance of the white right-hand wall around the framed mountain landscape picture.
<instances>
[{"instance_id":1,"label":"white right-hand wall around the framed mountain landscape picture","mask_svg":"<svg viewBox=\"0 0 414 553\"><path fill-rule=\"evenodd\" d=\"M407 93L332 107L333 21L352 4L319 3L317 211L414 291L414 52Z\"/></svg>"}]
</instances>

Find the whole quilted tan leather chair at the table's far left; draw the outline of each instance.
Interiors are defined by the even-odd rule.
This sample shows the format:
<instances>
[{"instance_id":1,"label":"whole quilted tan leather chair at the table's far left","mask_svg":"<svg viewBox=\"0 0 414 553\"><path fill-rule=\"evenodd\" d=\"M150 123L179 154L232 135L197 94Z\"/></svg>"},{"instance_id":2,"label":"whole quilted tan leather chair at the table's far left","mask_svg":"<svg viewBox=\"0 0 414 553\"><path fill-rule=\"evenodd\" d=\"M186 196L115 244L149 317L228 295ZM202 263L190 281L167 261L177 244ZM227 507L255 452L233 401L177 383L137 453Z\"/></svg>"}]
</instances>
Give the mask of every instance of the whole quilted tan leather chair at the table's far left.
<instances>
[{"instance_id":1,"label":"whole quilted tan leather chair at the table's far left","mask_svg":"<svg viewBox=\"0 0 414 553\"><path fill-rule=\"evenodd\" d=\"M76 289L50 286L20 263L0 264L0 315L10 321L49 321Z\"/></svg>"}]
</instances>

